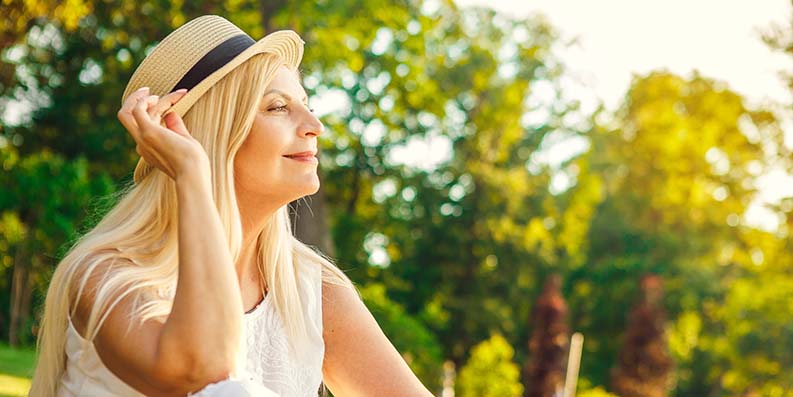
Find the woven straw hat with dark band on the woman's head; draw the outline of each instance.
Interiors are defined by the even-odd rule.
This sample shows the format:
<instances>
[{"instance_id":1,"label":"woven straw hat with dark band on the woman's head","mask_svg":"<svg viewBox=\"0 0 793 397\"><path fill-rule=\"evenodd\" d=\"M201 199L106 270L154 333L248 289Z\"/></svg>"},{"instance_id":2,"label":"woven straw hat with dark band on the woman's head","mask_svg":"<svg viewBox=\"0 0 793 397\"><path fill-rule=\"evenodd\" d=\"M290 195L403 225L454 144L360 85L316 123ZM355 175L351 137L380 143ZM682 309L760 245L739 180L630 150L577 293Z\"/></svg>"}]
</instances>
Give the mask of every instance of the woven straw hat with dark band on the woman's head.
<instances>
[{"instance_id":1,"label":"woven straw hat with dark band on the woman's head","mask_svg":"<svg viewBox=\"0 0 793 397\"><path fill-rule=\"evenodd\" d=\"M159 96L187 88L187 94L166 112L184 116L209 88L253 55L275 54L286 65L297 68L303 58L303 44L291 30L273 32L255 41L225 18L204 15L180 26L154 47L129 79L121 103L141 87L149 87L152 95ZM141 158L135 167L135 183L153 169Z\"/></svg>"}]
</instances>

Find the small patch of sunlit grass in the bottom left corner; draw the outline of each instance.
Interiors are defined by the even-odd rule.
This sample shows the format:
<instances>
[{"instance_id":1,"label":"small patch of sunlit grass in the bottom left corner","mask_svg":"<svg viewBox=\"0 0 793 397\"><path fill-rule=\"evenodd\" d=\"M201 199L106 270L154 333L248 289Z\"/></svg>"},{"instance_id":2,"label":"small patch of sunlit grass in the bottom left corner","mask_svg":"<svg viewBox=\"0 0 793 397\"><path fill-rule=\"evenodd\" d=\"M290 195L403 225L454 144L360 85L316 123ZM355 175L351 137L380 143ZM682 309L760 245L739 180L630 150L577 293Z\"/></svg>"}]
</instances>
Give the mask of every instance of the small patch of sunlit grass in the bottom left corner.
<instances>
[{"instance_id":1,"label":"small patch of sunlit grass in the bottom left corner","mask_svg":"<svg viewBox=\"0 0 793 397\"><path fill-rule=\"evenodd\" d=\"M27 396L35 361L32 348L12 348L0 343L0 397Z\"/></svg>"}]
</instances>

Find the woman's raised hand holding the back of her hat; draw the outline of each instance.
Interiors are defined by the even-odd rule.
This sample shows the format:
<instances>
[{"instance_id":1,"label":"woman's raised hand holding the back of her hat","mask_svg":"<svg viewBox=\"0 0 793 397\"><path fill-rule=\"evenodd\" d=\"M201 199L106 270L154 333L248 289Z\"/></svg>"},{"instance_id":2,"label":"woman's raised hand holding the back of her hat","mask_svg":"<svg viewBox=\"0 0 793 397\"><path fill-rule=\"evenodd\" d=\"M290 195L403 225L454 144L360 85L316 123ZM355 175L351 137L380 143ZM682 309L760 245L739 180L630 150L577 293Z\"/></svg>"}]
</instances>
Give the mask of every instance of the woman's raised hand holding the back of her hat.
<instances>
[{"instance_id":1,"label":"woman's raised hand holding the back of her hat","mask_svg":"<svg viewBox=\"0 0 793 397\"><path fill-rule=\"evenodd\" d=\"M118 111L118 120L135 139L135 151L173 180L189 173L210 174L206 151L182 118L173 112L162 116L185 93L181 89L160 98L149 95L149 88L144 87L130 94Z\"/></svg>"}]
</instances>

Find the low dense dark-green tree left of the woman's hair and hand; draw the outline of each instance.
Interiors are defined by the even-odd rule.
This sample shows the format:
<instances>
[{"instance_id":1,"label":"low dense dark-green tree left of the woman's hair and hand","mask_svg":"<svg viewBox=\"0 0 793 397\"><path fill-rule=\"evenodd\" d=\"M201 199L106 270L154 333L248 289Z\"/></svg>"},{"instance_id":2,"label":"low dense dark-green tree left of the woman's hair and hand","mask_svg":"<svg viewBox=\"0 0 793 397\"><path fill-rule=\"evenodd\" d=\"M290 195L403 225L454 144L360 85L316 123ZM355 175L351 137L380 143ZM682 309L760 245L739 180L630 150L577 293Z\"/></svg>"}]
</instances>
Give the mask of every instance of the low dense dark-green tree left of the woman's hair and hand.
<instances>
[{"instance_id":1,"label":"low dense dark-green tree left of the woman's hair and hand","mask_svg":"<svg viewBox=\"0 0 793 397\"><path fill-rule=\"evenodd\" d=\"M95 197L111 193L107 177L90 178L85 159L67 162L42 151L24 158L6 147L0 149L2 226L0 257L3 290L9 308L3 311L8 342L29 343L30 310L34 297L46 291L49 272L63 244L75 238L86 207ZM35 292L35 294L34 294Z\"/></svg>"}]
</instances>

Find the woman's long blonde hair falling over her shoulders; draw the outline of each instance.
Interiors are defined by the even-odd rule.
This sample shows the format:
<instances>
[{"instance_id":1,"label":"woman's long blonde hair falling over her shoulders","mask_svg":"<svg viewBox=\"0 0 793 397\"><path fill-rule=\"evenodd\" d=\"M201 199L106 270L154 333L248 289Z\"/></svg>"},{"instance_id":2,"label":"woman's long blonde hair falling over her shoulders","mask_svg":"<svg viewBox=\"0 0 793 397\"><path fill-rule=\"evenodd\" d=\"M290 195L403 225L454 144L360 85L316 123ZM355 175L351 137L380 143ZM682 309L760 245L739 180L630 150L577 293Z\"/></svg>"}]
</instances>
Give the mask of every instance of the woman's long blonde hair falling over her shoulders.
<instances>
[{"instance_id":1,"label":"woman's long blonde hair falling over her shoulders","mask_svg":"<svg viewBox=\"0 0 793 397\"><path fill-rule=\"evenodd\" d=\"M282 64L270 54L252 57L207 91L184 117L188 130L209 156L213 196L235 262L240 255L242 227L234 190L234 158L253 124L264 90ZM177 226L174 182L156 171L128 187L118 204L77 240L50 281L30 395L55 396L66 369L69 319L95 271L103 278L93 291L86 319L84 337L88 342L125 297L134 297L131 316L139 321L168 315L178 274ZM323 282L355 288L328 258L294 237L287 205L273 214L257 245L259 271L268 293L273 294L290 345L293 349L304 346L308 333L299 273L320 271Z\"/></svg>"}]
</instances>

